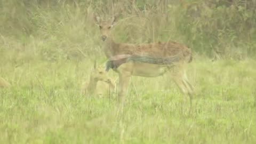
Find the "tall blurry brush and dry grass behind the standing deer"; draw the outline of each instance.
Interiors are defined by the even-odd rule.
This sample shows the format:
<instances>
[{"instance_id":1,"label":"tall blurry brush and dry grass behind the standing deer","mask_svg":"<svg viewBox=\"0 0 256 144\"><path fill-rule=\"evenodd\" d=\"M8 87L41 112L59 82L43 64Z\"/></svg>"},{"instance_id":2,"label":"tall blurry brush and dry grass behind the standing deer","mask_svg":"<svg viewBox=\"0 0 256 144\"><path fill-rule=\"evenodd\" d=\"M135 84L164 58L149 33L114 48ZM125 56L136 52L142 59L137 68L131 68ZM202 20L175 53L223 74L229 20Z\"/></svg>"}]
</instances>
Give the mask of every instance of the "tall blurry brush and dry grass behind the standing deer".
<instances>
[{"instance_id":1,"label":"tall blurry brush and dry grass behind the standing deer","mask_svg":"<svg viewBox=\"0 0 256 144\"><path fill-rule=\"evenodd\" d=\"M122 11L117 42L171 39L212 59L255 58L256 0L1 0L0 60L19 65L102 54L94 11Z\"/></svg>"}]
</instances>

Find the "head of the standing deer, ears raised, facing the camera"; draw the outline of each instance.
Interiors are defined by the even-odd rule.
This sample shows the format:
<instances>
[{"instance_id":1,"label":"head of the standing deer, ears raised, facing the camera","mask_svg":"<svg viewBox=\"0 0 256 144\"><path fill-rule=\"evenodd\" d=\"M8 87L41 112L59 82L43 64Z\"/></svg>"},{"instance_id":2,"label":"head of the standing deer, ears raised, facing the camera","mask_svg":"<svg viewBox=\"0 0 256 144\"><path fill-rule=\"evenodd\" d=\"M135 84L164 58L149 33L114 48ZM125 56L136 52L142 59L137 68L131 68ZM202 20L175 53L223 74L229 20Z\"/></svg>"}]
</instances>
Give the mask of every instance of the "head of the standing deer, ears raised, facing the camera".
<instances>
[{"instance_id":1,"label":"head of the standing deer, ears raised, facing the camera","mask_svg":"<svg viewBox=\"0 0 256 144\"><path fill-rule=\"evenodd\" d=\"M114 16L109 20L102 20L102 18L94 15L94 20L99 26L102 41L106 41L111 36L111 29L116 25L117 17Z\"/></svg>"}]
</instances>

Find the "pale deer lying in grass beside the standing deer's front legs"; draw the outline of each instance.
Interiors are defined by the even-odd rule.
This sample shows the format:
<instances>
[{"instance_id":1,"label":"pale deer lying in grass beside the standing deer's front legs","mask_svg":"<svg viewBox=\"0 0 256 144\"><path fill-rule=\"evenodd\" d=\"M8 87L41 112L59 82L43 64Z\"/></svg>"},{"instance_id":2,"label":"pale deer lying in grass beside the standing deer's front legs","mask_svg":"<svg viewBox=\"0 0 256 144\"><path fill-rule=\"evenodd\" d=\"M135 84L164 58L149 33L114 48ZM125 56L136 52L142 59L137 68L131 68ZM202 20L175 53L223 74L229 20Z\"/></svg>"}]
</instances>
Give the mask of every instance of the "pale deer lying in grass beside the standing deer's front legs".
<instances>
[{"instance_id":1,"label":"pale deer lying in grass beside the standing deer's front legs","mask_svg":"<svg viewBox=\"0 0 256 144\"><path fill-rule=\"evenodd\" d=\"M82 94L96 94L98 97L102 97L109 90L114 90L114 88L115 81L108 76L103 67L97 67L96 63L94 63L89 82L82 84Z\"/></svg>"}]
</instances>

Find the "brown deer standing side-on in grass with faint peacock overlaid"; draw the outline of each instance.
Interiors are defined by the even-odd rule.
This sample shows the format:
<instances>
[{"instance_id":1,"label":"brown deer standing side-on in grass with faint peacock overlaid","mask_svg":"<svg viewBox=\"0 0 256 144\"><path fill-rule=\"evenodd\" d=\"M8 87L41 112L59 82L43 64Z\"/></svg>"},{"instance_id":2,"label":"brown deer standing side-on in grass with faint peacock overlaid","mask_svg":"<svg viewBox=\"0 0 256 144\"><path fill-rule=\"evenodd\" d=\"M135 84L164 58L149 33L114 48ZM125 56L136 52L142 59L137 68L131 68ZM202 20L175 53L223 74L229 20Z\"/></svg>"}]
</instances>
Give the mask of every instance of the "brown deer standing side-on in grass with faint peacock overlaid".
<instances>
[{"instance_id":1,"label":"brown deer standing side-on in grass with faint peacock overlaid","mask_svg":"<svg viewBox=\"0 0 256 144\"><path fill-rule=\"evenodd\" d=\"M131 76L157 77L169 73L182 93L189 95L190 109L193 99L193 86L186 76L185 66L192 60L191 50L180 43L126 44L116 43L111 29L116 25L116 17L103 20L94 17L100 28L103 51L109 59L107 69L118 73L118 100L123 103Z\"/></svg>"}]
</instances>

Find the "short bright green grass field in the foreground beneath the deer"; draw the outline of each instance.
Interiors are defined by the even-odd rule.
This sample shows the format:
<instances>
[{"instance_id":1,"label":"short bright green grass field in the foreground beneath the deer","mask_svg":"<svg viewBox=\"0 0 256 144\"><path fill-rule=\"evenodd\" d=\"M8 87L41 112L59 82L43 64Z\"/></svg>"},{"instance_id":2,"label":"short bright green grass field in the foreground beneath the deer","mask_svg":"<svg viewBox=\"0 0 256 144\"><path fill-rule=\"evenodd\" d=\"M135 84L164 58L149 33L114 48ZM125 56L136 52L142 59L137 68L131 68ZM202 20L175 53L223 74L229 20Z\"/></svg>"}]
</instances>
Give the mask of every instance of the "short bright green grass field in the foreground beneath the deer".
<instances>
[{"instance_id":1,"label":"short bright green grass field in the foreground beneath the deer","mask_svg":"<svg viewBox=\"0 0 256 144\"><path fill-rule=\"evenodd\" d=\"M115 94L79 94L91 62L2 63L13 86L0 94L0 143L255 143L255 64L194 60L190 115L167 75L132 77L124 114L116 117Z\"/></svg>"}]
</instances>

